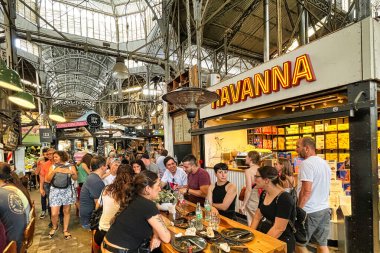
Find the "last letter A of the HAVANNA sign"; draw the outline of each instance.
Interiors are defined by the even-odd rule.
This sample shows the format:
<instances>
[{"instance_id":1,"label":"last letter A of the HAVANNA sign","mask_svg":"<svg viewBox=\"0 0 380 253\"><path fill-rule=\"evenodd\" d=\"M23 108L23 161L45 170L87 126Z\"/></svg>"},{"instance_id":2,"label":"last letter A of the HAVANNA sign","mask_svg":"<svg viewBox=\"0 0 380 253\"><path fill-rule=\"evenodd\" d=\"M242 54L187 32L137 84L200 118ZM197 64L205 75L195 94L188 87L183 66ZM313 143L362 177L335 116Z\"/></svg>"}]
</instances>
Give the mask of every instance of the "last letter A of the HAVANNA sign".
<instances>
[{"instance_id":1,"label":"last letter A of the HAVANNA sign","mask_svg":"<svg viewBox=\"0 0 380 253\"><path fill-rule=\"evenodd\" d=\"M308 54L304 54L297 57L296 64L294 66L292 85L299 85L302 79L306 79L306 81L308 82L316 80L313 71L313 66L311 65L311 61Z\"/></svg>"}]
</instances>

